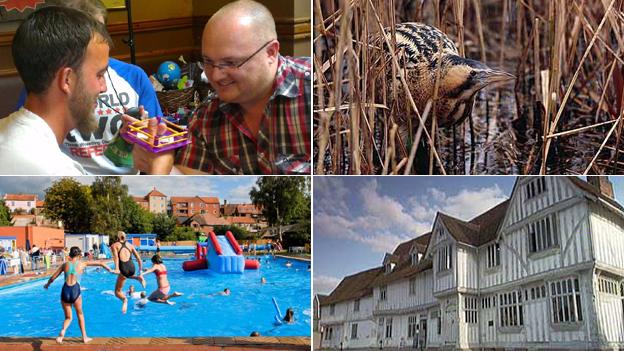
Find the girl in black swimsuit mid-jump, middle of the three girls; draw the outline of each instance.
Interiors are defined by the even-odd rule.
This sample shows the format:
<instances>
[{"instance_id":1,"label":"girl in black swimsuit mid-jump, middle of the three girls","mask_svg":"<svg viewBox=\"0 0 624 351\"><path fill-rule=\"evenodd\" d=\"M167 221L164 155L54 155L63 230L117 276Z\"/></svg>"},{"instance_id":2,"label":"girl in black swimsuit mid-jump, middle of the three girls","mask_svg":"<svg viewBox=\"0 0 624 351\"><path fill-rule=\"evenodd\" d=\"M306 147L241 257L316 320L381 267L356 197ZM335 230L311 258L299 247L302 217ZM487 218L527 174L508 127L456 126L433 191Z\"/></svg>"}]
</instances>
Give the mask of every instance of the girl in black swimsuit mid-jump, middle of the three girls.
<instances>
[{"instance_id":1,"label":"girl in black swimsuit mid-jump, middle of the three girls","mask_svg":"<svg viewBox=\"0 0 624 351\"><path fill-rule=\"evenodd\" d=\"M117 232L117 241L111 246L113 252L113 261L115 262L115 273L118 273L117 282L115 283L115 296L123 301L121 305L121 312L126 313L128 309L128 298L123 293L123 286L126 279L138 280L143 288L145 288L145 279L140 275L135 275L134 262L132 261L132 255L134 255L139 264L139 272L143 270L143 261L141 256L134 248L134 246L126 241L126 233Z\"/></svg>"}]
</instances>

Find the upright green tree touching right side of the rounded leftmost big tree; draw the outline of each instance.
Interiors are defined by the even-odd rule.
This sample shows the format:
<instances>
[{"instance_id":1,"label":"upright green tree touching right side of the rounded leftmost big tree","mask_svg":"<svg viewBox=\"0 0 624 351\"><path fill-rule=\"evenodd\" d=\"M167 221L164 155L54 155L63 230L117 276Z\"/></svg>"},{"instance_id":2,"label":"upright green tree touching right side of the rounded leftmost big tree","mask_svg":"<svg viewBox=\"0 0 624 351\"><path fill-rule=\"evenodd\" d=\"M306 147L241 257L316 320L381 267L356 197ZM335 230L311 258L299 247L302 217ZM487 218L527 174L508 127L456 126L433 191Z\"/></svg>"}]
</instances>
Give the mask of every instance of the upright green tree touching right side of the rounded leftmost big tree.
<instances>
[{"instance_id":1,"label":"upright green tree touching right side of the rounded leftmost big tree","mask_svg":"<svg viewBox=\"0 0 624 351\"><path fill-rule=\"evenodd\" d=\"M121 177L97 177L91 184L94 213L91 229L95 233L114 234L124 227L123 201L128 186Z\"/></svg>"}]
</instances>

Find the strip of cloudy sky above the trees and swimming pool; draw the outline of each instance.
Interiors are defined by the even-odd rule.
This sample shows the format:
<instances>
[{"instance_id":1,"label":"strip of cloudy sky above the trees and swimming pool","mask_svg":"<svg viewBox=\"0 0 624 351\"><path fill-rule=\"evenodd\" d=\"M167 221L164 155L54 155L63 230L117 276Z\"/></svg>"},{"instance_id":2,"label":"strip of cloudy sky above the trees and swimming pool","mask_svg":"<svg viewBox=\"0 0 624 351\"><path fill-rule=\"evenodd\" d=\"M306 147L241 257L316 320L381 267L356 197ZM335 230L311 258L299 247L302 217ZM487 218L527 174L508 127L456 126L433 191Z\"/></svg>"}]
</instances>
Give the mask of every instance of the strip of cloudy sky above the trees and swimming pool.
<instances>
[{"instance_id":1,"label":"strip of cloudy sky above the trees and swimming pool","mask_svg":"<svg viewBox=\"0 0 624 351\"><path fill-rule=\"evenodd\" d=\"M11 194L37 194L44 198L45 189L62 177L9 177L0 176L0 197ZM94 177L74 177L83 184L93 183ZM128 185L128 193L145 196L153 187L171 196L212 196L228 203L250 203L249 191L256 183L254 176L126 176L122 182Z\"/></svg>"}]
</instances>

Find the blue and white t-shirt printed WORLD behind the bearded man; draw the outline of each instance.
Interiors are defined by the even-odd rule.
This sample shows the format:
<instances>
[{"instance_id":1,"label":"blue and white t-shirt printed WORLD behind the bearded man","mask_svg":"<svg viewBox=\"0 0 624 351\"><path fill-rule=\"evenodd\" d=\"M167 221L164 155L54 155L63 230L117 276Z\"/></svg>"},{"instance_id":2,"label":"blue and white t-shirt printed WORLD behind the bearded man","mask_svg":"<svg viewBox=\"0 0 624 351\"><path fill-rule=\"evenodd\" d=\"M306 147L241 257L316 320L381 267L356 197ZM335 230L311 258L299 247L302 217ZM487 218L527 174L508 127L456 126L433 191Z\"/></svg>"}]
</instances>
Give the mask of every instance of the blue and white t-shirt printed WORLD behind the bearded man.
<instances>
[{"instance_id":1,"label":"blue and white t-shirt printed WORLD behind the bearded man","mask_svg":"<svg viewBox=\"0 0 624 351\"><path fill-rule=\"evenodd\" d=\"M99 95L95 109L97 129L89 135L71 130L65 136L61 150L80 163L89 174L136 174L136 169L115 166L104 156L104 150L119 133L123 107L143 105L149 116L162 116L162 111L143 69L112 57L108 65L104 74L106 91ZM18 108L24 105L25 100L26 91L22 91Z\"/></svg>"}]
</instances>

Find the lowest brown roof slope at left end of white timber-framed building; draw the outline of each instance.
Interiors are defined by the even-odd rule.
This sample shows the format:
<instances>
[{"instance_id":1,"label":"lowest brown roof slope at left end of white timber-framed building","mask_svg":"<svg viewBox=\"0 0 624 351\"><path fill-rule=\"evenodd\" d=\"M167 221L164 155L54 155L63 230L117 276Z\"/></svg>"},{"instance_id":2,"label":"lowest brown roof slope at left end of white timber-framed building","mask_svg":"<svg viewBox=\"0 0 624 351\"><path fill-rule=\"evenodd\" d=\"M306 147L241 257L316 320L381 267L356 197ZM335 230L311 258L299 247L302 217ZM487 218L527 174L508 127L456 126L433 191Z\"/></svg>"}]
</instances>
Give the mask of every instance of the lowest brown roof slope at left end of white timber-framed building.
<instances>
[{"instance_id":1,"label":"lowest brown roof slope at left end of white timber-framed building","mask_svg":"<svg viewBox=\"0 0 624 351\"><path fill-rule=\"evenodd\" d=\"M372 295L373 287L371 283L381 272L382 268L376 267L344 277L334 291L321 301L321 305L325 306Z\"/></svg>"}]
</instances>

